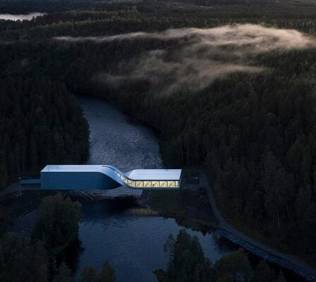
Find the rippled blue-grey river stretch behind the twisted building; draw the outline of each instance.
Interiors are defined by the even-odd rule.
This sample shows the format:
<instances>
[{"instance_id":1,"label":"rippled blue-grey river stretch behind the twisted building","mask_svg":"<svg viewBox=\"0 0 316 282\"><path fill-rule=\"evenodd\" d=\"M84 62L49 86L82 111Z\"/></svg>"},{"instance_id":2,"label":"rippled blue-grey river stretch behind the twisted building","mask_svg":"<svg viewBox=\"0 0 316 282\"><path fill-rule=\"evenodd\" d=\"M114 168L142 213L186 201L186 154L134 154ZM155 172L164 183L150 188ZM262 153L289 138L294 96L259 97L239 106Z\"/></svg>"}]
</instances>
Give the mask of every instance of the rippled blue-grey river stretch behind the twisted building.
<instances>
[{"instance_id":1,"label":"rippled blue-grey river stretch behind the twisted building","mask_svg":"<svg viewBox=\"0 0 316 282\"><path fill-rule=\"evenodd\" d=\"M154 132L130 123L128 116L114 106L88 97L79 97L90 125L88 164L111 164L121 171L162 168L159 145Z\"/></svg>"}]
</instances>

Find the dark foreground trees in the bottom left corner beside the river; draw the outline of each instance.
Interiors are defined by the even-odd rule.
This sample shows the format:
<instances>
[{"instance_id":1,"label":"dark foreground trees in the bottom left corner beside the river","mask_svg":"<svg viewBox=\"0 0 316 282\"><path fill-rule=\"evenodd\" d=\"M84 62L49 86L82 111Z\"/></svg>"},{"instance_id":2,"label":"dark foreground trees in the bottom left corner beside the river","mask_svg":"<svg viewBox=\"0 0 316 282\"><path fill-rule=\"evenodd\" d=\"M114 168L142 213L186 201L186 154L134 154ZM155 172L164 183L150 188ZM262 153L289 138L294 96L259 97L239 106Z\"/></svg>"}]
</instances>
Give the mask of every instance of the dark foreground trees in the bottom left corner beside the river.
<instances>
[{"instance_id":1,"label":"dark foreground trees in the bottom left corner beside the river","mask_svg":"<svg viewBox=\"0 0 316 282\"><path fill-rule=\"evenodd\" d=\"M0 241L0 281L74 282L71 269L56 263L70 243L78 241L81 205L60 194L43 197L31 240L7 233ZM116 272L109 261L102 271L83 269L80 282L115 282Z\"/></svg>"}]
</instances>

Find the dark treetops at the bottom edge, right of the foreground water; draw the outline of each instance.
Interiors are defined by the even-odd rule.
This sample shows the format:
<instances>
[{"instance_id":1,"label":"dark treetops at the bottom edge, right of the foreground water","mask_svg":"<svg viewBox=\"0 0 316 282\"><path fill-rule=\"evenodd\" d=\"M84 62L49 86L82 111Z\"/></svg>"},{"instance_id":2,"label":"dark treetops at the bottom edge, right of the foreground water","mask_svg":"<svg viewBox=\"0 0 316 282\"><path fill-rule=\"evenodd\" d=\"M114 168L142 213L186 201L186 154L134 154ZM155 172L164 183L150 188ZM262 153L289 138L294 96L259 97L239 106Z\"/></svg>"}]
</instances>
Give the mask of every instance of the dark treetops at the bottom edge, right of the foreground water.
<instances>
[{"instance_id":1,"label":"dark treetops at the bottom edge, right of the foreground water","mask_svg":"<svg viewBox=\"0 0 316 282\"><path fill-rule=\"evenodd\" d=\"M164 251L169 255L169 262L165 270L154 271L159 282L286 281L282 271L277 274L263 260L253 269L242 249L213 264L205 257L198 238L185 230L181 230L176 238L169 235Z\"/></svg>"}]
</instances>

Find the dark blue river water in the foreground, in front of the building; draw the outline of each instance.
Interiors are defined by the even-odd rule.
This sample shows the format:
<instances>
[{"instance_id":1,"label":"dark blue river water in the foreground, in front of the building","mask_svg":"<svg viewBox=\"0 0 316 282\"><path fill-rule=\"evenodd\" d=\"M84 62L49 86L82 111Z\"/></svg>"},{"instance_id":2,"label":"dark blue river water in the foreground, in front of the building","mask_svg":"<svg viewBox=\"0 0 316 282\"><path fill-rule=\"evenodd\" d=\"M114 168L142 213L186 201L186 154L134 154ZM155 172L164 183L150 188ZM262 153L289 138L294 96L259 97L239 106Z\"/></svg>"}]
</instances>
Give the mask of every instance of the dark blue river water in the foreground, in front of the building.
<instances>
[{"instance_id":1,"label":"dark blue river water in the foreground, in front of the building","mask_svg":"<svg viewBox=\"0 0 316 282\"><path fill-rule=\"evenodd\" d=\"M182 228L174 219L162 216L133 216L118 201L83 205L80 240L84 250L76 262L75 276L87 265L101 269L109 259L117 271L118 281L157 281L152 271L164 268L168 261L164 243L170 233L176 235ZM233 250L219 244L212 235L197 235L205 255L212 261Z\"/></svg>"}]
</instances>

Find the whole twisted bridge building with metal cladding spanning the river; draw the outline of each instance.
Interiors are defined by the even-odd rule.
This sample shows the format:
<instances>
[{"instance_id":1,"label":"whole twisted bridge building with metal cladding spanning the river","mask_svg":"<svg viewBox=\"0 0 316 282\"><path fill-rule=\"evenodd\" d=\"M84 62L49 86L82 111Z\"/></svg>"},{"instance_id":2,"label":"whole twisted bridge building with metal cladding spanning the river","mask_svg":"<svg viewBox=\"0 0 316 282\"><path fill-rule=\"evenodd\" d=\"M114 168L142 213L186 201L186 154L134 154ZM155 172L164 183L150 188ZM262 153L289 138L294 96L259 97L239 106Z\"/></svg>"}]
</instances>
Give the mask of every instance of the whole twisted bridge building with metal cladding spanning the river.
<instances>
[{"instance_id":1,"label":"whole twisted bridge building with metal cladding spanning the river","mask_svg":"<svg viewBox=\"0 0 316 282\"><path fill-rule=\"evenodd\" d=\"M47 190L108 190L127 188L175 190L181 169L137 169L123 173L114 166L48 165L41 171L41 188Z\"/></svg>"}]
</instances>

